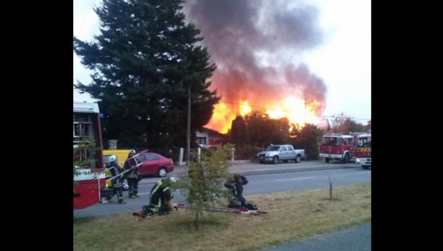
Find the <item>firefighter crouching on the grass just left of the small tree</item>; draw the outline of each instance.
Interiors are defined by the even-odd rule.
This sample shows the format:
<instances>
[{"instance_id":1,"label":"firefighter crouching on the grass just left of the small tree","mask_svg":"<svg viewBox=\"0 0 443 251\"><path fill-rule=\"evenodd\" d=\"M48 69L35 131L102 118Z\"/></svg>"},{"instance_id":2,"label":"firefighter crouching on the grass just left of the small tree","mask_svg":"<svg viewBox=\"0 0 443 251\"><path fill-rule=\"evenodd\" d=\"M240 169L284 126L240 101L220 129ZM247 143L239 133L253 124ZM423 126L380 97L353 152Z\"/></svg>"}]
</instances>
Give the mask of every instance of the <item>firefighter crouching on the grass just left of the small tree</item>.
<instances>
[{"instance_id":1,"label":"firefighter crouching on the grass just left of the small tree","mask_svg":"<svg viewBox=\"0 0 443 251\"><path fill-rule=\"evenodd\" d=\"M164 215L169 213L174 206L172 204L172 190L170 188L171 182L176 182L175 178L160 179L151 189L149 196L149 205L143 206L142 215L151 216L154 213Z\"/></svg>"}]
</instances>

